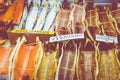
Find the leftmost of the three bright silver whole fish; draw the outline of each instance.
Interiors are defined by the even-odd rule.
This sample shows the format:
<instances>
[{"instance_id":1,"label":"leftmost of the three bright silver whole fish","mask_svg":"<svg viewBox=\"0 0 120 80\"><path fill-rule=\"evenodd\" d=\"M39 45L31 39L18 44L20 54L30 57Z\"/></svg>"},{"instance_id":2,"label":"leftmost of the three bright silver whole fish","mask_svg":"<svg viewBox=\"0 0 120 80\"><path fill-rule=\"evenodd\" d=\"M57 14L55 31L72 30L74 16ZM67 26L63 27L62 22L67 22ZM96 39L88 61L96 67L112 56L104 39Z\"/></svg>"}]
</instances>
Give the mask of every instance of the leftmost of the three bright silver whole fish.
<instances>
[{"instance_id":1,"label":"leftmost of the three bright silver whole fish","mask_svg":"<svg viewBox=\"0 0 120 80\"><path fill-rule=\"evenodd\" d=\"M26 24L25 24L25 29L26 30L32 30L34 27L34 24L36 22L36 18L37 18L37 13L38 13L38 5L34 4L27 16L26 19Z\"/></svg>"}]
</instances>

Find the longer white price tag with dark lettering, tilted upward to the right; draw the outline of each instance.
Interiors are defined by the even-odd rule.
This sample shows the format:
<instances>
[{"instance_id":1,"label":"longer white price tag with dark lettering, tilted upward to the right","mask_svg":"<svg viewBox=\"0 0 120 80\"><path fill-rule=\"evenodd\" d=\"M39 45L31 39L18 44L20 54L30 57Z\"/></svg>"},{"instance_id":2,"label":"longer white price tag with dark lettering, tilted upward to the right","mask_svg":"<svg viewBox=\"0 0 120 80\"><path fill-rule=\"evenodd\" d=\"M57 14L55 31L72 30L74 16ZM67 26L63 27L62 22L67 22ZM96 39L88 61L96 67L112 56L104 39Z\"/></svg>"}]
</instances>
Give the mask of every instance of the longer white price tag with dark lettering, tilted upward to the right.
<instances>
[{"instance_id":1,"label":"longer white price tag with dark lettering, tilted upward to the right","mask_svg":"<svg viewBox=\"0 0 120 80\"><path fill-rule=\"evenodd\" d=\"M83 38L84 38L84 33L68 34L68 35L52 36L50 37L49 42L59 42L64 40L83 39Z\"/></svg>"}]
</instances>

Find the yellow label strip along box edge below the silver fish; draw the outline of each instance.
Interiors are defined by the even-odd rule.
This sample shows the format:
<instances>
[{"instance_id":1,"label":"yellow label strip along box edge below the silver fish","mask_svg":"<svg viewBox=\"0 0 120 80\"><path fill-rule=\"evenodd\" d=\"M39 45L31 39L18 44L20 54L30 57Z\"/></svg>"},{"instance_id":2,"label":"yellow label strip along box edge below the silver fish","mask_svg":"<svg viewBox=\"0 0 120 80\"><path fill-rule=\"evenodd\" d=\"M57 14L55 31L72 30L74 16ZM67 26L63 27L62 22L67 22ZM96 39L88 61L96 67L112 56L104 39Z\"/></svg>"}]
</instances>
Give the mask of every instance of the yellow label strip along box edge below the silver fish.
<instances>
[{"instance_id":1,"label":"yellow label strip along box edge below the silver fish","mask_svg":"<svg viewBox=\"0 0 120 80\"><path fill-rule=\"evenodd\" d=\"M54 31L45 31L45 30L11 30L12 33L36 33L36 34L50 34L53 35Z\"/></svg>"}]
</instances>

